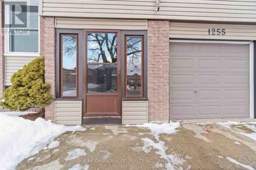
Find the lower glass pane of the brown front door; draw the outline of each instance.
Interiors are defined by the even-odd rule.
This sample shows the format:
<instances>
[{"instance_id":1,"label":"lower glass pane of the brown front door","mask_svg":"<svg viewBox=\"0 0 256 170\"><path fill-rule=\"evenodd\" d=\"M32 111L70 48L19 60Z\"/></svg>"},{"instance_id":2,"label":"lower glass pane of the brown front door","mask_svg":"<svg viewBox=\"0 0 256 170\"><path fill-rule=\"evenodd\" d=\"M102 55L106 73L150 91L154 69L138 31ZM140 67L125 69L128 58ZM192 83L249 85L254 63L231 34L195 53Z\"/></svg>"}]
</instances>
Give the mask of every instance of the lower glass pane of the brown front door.
<instances>
[{"instance_id":1,"label":"lower glass pane of the brown front door","mask_svg":"<svg viewBox=\"0 0 256 170\"><path fill-rule=\"evenodd\" d=\"M87 65L87 92L117 92L116 64L88 64Z\"/></svg>"}]
</instances>

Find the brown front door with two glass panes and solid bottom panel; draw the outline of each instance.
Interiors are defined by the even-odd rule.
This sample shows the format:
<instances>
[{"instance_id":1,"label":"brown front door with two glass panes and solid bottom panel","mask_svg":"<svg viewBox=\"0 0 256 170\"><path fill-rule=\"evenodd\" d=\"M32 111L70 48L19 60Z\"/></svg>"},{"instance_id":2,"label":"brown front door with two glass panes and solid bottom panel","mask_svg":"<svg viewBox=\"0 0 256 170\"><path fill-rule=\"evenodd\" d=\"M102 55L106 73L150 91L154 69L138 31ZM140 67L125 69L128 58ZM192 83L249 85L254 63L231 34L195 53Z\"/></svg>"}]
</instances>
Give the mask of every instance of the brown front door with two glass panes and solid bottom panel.
<instances>
[{"instance_id":1,"label":"brown front door with two glass panes and solid bottom panel","mask_svg":"<svg viewBox=\"0 0 256 170\"><path fill-rule=\"evenodd\" d=\"M120 32L84 30L84 116L120 115Z\"/></svg>"}]
</instances>

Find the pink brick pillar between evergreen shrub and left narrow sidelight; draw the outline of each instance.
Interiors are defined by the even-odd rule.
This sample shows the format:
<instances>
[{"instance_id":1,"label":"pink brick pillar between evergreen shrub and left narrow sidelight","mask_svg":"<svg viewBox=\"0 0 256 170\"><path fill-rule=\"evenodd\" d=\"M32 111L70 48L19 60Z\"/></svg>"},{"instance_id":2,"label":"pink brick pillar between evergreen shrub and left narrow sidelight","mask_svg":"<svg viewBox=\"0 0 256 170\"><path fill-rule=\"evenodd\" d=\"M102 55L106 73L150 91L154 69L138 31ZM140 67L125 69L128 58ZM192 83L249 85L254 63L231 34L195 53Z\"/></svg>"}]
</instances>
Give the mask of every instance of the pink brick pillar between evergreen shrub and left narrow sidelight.
<instances>
[{"instance_id":1,"label":"pink brick pillar between evergreen shrub and left narrow sidelight","mask_svg":"<svg viewBox=\"0 0 256 170\"><path fill-rule=\"evenodd\" d=\"M55 18L40 17L40 55L44 56L45 83L55 96ZM54 102L45 107L45 119L54 121Z\"/></svg>"}]
</instances>

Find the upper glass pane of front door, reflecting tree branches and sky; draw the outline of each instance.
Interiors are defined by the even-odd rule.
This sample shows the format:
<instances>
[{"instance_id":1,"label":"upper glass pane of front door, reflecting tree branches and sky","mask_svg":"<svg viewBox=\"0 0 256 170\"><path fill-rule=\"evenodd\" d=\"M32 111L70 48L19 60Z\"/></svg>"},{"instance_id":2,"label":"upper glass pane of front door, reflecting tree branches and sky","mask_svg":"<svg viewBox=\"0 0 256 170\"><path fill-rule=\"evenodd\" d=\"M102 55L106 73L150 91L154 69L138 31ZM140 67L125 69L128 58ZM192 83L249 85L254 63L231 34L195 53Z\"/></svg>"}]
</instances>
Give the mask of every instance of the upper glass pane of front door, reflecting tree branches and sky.
<instances>
[{"instance_id":1,"label":"upper glass pane of front door, reflecting tree branches and sky","mask_svg":"<svg viewBox=\"0 0 256 170\"><path fill-rule=\"evenodd\" d=\"M116 63L117 33L88 33L87 62Z\"/></svg>"}]
</instances>

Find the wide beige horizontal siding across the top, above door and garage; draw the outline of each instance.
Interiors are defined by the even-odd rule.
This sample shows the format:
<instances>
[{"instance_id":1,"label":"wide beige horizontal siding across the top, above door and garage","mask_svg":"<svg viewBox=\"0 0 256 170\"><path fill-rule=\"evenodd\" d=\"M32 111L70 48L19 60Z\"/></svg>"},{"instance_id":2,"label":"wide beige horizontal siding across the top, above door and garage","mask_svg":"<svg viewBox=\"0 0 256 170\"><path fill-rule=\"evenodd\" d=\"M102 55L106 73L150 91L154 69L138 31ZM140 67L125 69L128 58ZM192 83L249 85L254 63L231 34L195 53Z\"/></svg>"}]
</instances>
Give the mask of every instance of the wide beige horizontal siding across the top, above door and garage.
<instances>
[{"instance_id":1,"label":"wide beige horizontal siding across the top, above door and garage","mask_svg":"<svg viewBox=\"0 0 256 170\"><path fill-rule=\"evenodd\" d=\"M40 0L43 16L256 22L255 0Z\"/></svg>"}]
</instances>

